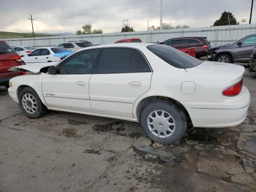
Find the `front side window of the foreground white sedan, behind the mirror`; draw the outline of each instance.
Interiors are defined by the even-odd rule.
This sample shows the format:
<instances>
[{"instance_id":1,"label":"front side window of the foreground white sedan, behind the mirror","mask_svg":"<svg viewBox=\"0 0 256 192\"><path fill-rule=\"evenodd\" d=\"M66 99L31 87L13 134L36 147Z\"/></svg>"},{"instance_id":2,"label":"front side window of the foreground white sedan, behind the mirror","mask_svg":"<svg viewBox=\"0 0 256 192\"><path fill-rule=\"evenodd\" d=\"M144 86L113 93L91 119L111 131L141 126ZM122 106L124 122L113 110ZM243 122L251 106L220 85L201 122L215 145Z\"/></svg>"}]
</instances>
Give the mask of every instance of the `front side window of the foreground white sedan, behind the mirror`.
<instances>
[{"instance_id":1,"label":"front side window of the foreground white sedan, behind the mirror","mask_svg":"<svg viewBox=\"0 0 256 192\"><path fill-rule=\"evenodd\" d=\"M57 66L57 74L92 74L100 49L78 52Z\"/></svg>"}]
</instances>

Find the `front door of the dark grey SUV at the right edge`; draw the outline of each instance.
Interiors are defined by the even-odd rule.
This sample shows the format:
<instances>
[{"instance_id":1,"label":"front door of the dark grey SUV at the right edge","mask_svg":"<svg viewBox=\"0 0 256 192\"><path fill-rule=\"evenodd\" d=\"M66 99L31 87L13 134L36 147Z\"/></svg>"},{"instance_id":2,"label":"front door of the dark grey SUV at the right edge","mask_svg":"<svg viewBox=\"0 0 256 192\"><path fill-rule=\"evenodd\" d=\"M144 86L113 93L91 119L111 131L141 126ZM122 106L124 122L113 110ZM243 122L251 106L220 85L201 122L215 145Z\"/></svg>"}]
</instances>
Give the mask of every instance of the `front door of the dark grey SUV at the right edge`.
<instances>
[{"instance_id":1,"label":"front door of the dark grey SUV at the right edge","mask_svg":"<svg viewBox=\"0 0 256 192\"><path fill-rule=\"evenodd\" d=\"M250 55L256 46L256 35L242 40L241 45L235 45L234 62L249 62Z\"/></svg>"}]
</instances>

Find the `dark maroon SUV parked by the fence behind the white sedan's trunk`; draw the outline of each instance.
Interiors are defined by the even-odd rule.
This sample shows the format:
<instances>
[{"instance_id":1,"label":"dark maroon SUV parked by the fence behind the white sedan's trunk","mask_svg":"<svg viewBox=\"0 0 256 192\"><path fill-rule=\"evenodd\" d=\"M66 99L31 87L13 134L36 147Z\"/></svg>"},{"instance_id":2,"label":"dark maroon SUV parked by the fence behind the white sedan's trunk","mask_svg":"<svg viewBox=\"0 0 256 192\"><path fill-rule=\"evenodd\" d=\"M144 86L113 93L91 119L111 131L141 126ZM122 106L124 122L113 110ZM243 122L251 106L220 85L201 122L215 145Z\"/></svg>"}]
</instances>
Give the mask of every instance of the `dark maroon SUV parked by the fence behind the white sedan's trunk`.
<instances>
[{"instance_id":1,"label":"dark maroon SUV parked by the fence behind the white sedan's trunk","mask_svg":"<svg viewBox=\"0 0 256 192\"><path fill-rule=\"evenodd\" d=\"M196 58L208 55L208 48L211 47L206 37L179 37L164 41L165 45L173 48L190 48L196 49Z\"/></svg>"}]
</instances>

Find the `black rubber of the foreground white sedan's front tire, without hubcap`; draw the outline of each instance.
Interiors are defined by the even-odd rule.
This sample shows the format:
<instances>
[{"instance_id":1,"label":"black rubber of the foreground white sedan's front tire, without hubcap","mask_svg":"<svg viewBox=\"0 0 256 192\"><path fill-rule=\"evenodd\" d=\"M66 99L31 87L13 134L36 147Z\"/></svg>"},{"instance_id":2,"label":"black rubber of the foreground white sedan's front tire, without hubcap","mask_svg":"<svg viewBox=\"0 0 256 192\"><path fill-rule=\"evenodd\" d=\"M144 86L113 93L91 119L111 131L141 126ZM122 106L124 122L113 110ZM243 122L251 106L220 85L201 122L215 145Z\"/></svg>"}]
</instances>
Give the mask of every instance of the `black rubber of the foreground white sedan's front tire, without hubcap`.
<instances>
[{"instance_id":1,"label":"black rubber of the foreground white sedan's front tire, without hubcap","mask_svg":"<svg viewBox=\"0 0 256 192\"><path fill-rule=\"evenodd\" d=\"M23 104L22 104L22 98L24 95L26 94L30 94L34 97L34 99L36 100L36 110L34 113L29 113L25 110ZM47 108L46 106L42 103L42 101L40 100L38 94L35 92L34 89L32 89L31 87L26 87L24 88L19 95L19 103L20 103L20 108L22 110L22 112L28 116L29 118L39 118L41 116L44 116L47 112Z\"/></svg>"}]
</instances>

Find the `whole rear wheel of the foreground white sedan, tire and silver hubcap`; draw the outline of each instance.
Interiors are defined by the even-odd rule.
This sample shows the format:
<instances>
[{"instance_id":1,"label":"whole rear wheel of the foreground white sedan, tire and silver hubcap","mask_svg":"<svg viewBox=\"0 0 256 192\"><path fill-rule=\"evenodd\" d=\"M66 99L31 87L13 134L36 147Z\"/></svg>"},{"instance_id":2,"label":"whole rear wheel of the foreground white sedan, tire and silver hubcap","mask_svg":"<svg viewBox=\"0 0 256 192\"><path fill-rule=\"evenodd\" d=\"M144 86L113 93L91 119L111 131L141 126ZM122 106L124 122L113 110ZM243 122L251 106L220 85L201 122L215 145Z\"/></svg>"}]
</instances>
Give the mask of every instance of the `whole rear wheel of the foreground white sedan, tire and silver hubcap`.
<instances>
[{"instance_id":1,"label":"whole rear wheel of the foreground white sedan, tire and silver hubcap","mask_svg":"<svg viewBox=\"0 0 256 192\"><path fill-rule=\"evenodd\" d=\"M141 114L145 134L160 144L173 144L180 140L187 127L186 115L176 104L156 100L148 104Z\"/></svg>"}]
</instances>

